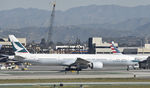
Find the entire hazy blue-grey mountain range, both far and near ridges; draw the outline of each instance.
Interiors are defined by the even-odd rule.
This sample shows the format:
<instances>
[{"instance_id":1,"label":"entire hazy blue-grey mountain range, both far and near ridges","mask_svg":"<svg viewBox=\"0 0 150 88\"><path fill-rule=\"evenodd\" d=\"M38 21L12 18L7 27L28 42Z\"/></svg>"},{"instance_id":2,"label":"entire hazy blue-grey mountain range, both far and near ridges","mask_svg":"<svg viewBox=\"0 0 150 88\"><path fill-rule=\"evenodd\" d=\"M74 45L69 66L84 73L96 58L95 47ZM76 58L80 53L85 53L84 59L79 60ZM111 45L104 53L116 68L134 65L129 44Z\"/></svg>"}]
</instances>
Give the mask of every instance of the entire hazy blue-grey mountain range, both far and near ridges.
<instances>
[{"instance_id":1,"label":"entire hazy blue-grey mountain range, both far and near ridges","mask_svg":"<svg viewBox=\"0 0 150 88\"><path fill-rule=\"evenodd\" d=\"M150 5L122 7L91 5L56 11L53 39L144 36L150 34ZM50 11L35 8L0 11L0 35L15 34L40 41L47 35Z\"/></svg>"}]
</instances>

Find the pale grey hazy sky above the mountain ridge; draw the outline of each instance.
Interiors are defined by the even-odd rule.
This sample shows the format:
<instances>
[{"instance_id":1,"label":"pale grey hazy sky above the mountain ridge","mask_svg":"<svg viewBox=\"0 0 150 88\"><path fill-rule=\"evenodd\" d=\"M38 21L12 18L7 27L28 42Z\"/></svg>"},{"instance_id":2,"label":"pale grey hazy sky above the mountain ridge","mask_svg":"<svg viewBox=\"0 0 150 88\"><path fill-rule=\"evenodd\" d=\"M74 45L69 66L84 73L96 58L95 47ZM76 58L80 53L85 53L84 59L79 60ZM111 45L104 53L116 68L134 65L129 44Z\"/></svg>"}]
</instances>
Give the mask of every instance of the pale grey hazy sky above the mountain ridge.
<instances>
[{"instance_id":1,"label":"pale grey hazy sky above the mountain ridge","mask_svg":"<svg viewBox=\"0 0 150 88\"><path fill-rule=\"evenodd\" d=\"M50 2L54 0L0 0L0 11L14 8L39 8L50 10ZM120 5L134 7L150 5L150 0L56 0L57 10L87 5Z\"/></svg>"}]
</instances>

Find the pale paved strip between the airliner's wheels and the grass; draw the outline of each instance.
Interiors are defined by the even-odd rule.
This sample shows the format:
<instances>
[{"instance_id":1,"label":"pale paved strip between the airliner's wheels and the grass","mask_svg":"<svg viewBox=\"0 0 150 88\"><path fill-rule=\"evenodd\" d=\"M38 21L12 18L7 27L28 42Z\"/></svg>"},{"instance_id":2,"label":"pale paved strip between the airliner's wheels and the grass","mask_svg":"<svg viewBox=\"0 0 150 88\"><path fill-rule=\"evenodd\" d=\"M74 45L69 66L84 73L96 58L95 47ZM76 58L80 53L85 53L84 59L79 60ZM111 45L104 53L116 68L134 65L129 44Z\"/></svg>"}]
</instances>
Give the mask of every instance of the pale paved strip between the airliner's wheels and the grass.
<instances>
[{"instance_id":1,"label":"pale paved strip between the airliner's wheels and the grass","mask_svg":"<svg viewBox=\"0 0 150 88\"><path fill-rule=\"evenodd\" d=\"M81 71L76 72L59 71L1 71L0 79L66 79L66 78L150 78L149 71Z\"/></svg>"}]
</instances>

